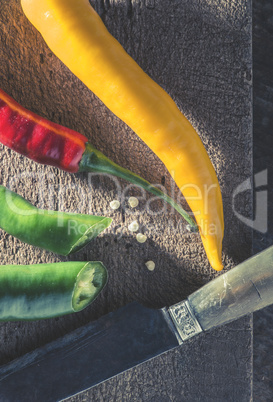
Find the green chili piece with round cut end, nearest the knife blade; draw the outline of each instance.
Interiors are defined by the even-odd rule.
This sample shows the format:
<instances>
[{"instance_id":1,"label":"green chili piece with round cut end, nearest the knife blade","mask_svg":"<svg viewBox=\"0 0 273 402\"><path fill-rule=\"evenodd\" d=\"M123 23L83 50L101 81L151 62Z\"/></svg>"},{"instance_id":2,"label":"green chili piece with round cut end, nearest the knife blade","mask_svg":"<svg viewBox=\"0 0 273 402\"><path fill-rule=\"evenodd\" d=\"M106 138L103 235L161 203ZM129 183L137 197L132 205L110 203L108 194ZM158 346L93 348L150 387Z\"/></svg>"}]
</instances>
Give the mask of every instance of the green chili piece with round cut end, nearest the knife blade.
<instances>
[{"instance_id":1,"label":"green chili piece with round cut end, nearest the knife blade","mask_svg":"<svg viewBox=\"0 0 273 402\"><path fill-rule=\"evenodd\" d=\"M87 307L107 282L101 262L0 266L0 320L38 320Z\"/></svg>"}]
</instances>

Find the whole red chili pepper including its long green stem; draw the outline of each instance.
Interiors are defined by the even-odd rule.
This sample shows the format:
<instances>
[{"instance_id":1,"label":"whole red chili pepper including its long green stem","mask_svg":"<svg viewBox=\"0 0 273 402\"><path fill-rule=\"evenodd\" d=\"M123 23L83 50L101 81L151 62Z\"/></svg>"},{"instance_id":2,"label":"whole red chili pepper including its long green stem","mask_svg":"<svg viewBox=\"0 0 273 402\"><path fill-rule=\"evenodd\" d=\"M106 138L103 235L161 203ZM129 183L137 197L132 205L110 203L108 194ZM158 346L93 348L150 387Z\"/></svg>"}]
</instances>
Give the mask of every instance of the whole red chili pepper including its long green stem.
<instances>
[{"instance_id":1,"label":"whole red chili pepper including its long green stem","mask_svg":"<svg viewBox=\"0 0 273 402\"><path fill-rule=\"evenodd\" d=\"M112 162L77 131L52 123L25 109L0 89L0 142L38 163L67 172L107 173L144 188L175 208L196 232L184 209L145 179Z\"/></svg>"}]
</instances>

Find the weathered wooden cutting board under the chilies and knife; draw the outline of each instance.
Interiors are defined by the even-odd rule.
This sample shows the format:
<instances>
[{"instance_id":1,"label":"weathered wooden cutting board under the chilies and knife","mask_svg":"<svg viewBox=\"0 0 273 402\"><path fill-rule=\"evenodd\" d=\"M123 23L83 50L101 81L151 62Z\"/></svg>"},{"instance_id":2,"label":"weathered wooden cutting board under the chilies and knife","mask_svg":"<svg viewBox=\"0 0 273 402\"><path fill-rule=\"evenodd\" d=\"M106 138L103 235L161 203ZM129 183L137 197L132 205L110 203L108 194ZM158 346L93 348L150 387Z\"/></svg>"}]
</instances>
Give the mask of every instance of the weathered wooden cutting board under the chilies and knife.
<instances>
[{"instance_id":1,"label":"weathered wooden cutting board under the chilies and knife","mask_svg":"<svg viewBox=\"0 0 273 402\"><path fill-rule=\"evenodd\" d=\"M251 230L232 209L236 187L252 174L250 1L91 3L110 32L173 97L202 138L222 188L224 261L225 269L230 269L251 252ZM163 183L170 194L181 198L158 158L47 48L24 17L18 0L1 0L0 22L0 86L7 93L32 111L85 134L115 162L152 183ZM91 174L69 175L2 146L0 161L1 184L33 204L114 218L112 226L90 246L67 258L102 260L109 271L105 291L77 315L2 323L1 363L130 301L149 307L176 303L219 275L210 269L199 236L187 233L177 214L125 182ZM143 197L137 210L126 203L133 194ZM117 198L124 201L123 206L113 212L109 202ZM240 214L251 216L250 193L239 194L234 205ZM127 229L134 219L148 236L144 244L137 243ZM0 242L2 264L65 260L4 232ZM156 263L154 272L145 267L150 259ZM251 336L247 317L96 387L92 400L248 401Z\"/></svg>"}]
</instances>

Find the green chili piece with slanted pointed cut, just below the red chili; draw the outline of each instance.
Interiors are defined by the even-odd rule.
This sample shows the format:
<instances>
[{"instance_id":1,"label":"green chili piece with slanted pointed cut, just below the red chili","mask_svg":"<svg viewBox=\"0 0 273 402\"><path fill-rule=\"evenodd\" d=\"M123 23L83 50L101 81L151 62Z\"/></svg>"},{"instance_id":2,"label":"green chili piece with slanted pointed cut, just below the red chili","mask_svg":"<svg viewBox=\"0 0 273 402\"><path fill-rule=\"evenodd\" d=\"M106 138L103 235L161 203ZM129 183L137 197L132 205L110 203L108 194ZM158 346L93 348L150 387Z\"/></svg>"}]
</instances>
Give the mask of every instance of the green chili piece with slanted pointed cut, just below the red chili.
<instances>
[{"instance_id":1,"label":"green chili piece with slanted pointed cut, just below the red chili","mask_svg":"<svg viewBox=\"0 0 273 402\"><path fill-rule=\"evenodd\" d=\"M18 239L68 255L84 247L112 222L111 218L38 209L0 186L0 227Z\"/></svg>"}]
</instances>

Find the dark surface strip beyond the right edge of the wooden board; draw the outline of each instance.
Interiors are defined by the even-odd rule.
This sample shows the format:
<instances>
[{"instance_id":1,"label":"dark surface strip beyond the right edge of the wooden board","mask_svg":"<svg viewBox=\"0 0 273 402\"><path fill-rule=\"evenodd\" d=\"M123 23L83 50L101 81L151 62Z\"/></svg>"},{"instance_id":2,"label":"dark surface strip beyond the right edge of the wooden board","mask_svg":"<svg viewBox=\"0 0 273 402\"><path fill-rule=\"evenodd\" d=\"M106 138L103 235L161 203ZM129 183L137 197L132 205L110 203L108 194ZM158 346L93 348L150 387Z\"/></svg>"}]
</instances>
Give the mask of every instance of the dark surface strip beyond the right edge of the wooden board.
<instances>
[{"instance_id":1,"label":"dark surface strip beyond the right edge of the wooden board","mask_svg":"<svg viewBox=\"0 0 273 402\"><path fill-rule=\"evenodd\" d=\"M253 1L253 144L254 172L267 170L268 230L254 233L255 252L273 244L273 3ZM257 189L258 190L258 189ZM273 395L273 306L253 317L253 399Z\"/></svg>"}]
</instances>

